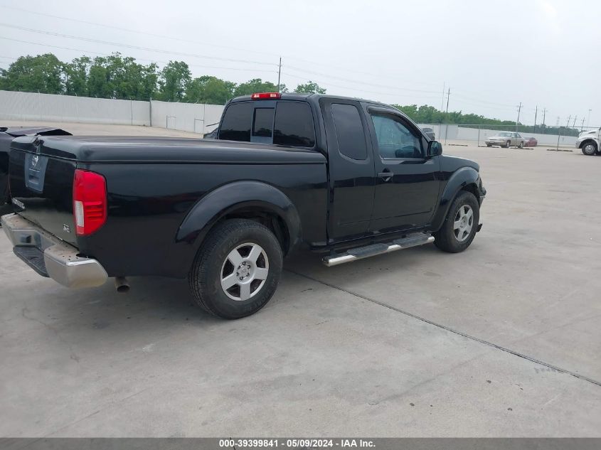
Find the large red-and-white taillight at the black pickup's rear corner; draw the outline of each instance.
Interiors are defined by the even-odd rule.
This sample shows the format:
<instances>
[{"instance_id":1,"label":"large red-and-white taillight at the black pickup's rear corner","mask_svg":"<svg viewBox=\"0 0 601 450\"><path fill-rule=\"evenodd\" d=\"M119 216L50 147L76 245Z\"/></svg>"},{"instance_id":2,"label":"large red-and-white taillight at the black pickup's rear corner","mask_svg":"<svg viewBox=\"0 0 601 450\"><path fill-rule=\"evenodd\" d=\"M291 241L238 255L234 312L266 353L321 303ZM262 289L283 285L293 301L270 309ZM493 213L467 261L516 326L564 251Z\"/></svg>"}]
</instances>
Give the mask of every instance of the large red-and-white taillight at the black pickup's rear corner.
<instances>
[{"instance_id":1,"label":"large red-and-white taillight at the black pickup's rear corner","mask_svg":"<svg viewBox=\"0 0 601 450\"><path fill-rule=\"evenodd\" d=\"M107 221L107 183L99 173L75 170L73 215L78 236L91 235Z\"/></svg>"}]
</instances>

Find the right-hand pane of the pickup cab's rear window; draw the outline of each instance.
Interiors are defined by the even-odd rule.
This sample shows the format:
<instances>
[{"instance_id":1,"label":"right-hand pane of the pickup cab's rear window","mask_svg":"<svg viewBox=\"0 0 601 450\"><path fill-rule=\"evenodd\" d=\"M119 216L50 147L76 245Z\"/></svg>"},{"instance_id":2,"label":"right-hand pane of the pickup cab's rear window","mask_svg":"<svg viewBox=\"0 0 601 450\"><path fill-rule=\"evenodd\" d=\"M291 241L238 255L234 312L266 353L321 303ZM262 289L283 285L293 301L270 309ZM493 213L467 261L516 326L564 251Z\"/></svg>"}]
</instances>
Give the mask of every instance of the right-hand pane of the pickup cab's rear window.
<instances>
[{"instance_id":1,"label":"right-hand pane of the pickup cab's rear window","mask_svg":"<svg viewBox=\"0 0 601 450\"><path fill-rule=\"evenodd\" d=\"M311 108L304 102L277 102L273 143L297 147L315 146Z\"/></svg>"}]
</instances>

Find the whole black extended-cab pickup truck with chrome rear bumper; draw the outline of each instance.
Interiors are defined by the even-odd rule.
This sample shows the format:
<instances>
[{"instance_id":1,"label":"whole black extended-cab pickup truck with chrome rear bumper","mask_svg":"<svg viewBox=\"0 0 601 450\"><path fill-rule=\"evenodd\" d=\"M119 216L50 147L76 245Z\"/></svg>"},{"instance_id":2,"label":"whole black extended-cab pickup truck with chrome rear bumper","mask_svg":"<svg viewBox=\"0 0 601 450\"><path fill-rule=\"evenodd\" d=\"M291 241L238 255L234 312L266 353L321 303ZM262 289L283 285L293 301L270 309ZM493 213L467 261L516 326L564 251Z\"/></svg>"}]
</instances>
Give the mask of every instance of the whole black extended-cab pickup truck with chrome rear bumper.
<instances>
[{"instance_id":1,"label":"whole black extended-cab pickup truck with chrome rear bumper","mask_svg":"<svg viewBox=\"0 0 601 450\"><path fill-rule=\"evenodd\" d=\"M255 313L297 247L333 266L434 242L461 252L486 191L388 105L264 93L225 106L218 139L12 141L14 252L71 287L188 277L200 306Z\"/></svg>"}]
</instances>

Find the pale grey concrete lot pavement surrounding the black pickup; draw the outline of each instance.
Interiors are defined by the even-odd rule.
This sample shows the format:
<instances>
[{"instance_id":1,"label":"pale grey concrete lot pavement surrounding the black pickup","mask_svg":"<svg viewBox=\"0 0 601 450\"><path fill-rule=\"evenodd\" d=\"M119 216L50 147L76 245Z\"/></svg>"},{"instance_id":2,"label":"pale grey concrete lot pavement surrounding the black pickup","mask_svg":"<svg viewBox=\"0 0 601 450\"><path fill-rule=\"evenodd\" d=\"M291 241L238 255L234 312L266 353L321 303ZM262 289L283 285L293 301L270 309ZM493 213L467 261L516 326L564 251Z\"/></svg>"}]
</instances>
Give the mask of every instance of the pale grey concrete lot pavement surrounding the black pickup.
<instances>
[{"instance_id":1,"label":"pale grey concrete lot pavement surrounding the black pickup","mask_svg":"<svg viewBox=\"0 0 601 450\"><path fill-rule=\"evenodd\" d=\"M65 289L2 236L0 436L601 436L601 157L444 151L482 166L469 250L299 253L239 321L184 280Z\"/></svg>"}]
</instances>

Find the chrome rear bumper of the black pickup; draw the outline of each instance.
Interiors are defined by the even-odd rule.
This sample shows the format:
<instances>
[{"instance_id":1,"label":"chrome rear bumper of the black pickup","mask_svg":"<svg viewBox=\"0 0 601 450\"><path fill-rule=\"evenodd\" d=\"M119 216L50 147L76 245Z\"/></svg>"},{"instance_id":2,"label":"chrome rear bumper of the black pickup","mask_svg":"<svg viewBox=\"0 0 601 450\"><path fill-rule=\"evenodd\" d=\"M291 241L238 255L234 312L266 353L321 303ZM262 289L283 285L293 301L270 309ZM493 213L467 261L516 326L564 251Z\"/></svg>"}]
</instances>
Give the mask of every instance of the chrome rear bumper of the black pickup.
<instances>
[{"instance_id":1,"label":"chrome rear bumper of the black pickup","mask_svg":"<svg viewBox=\"0 0 601 450\"><path fill-rule=\"evenodd\" d=\"M108 275L96 259L78 256L78 249L41 230L17 214L3 215L2 228L14 245L15 254L38 274L52 278L67 287L94 287L105 284ZM43 264L28 259L23 247L38 249ZM35 252L35 250L34 250Z\"/></svg>"}]
</instances>

